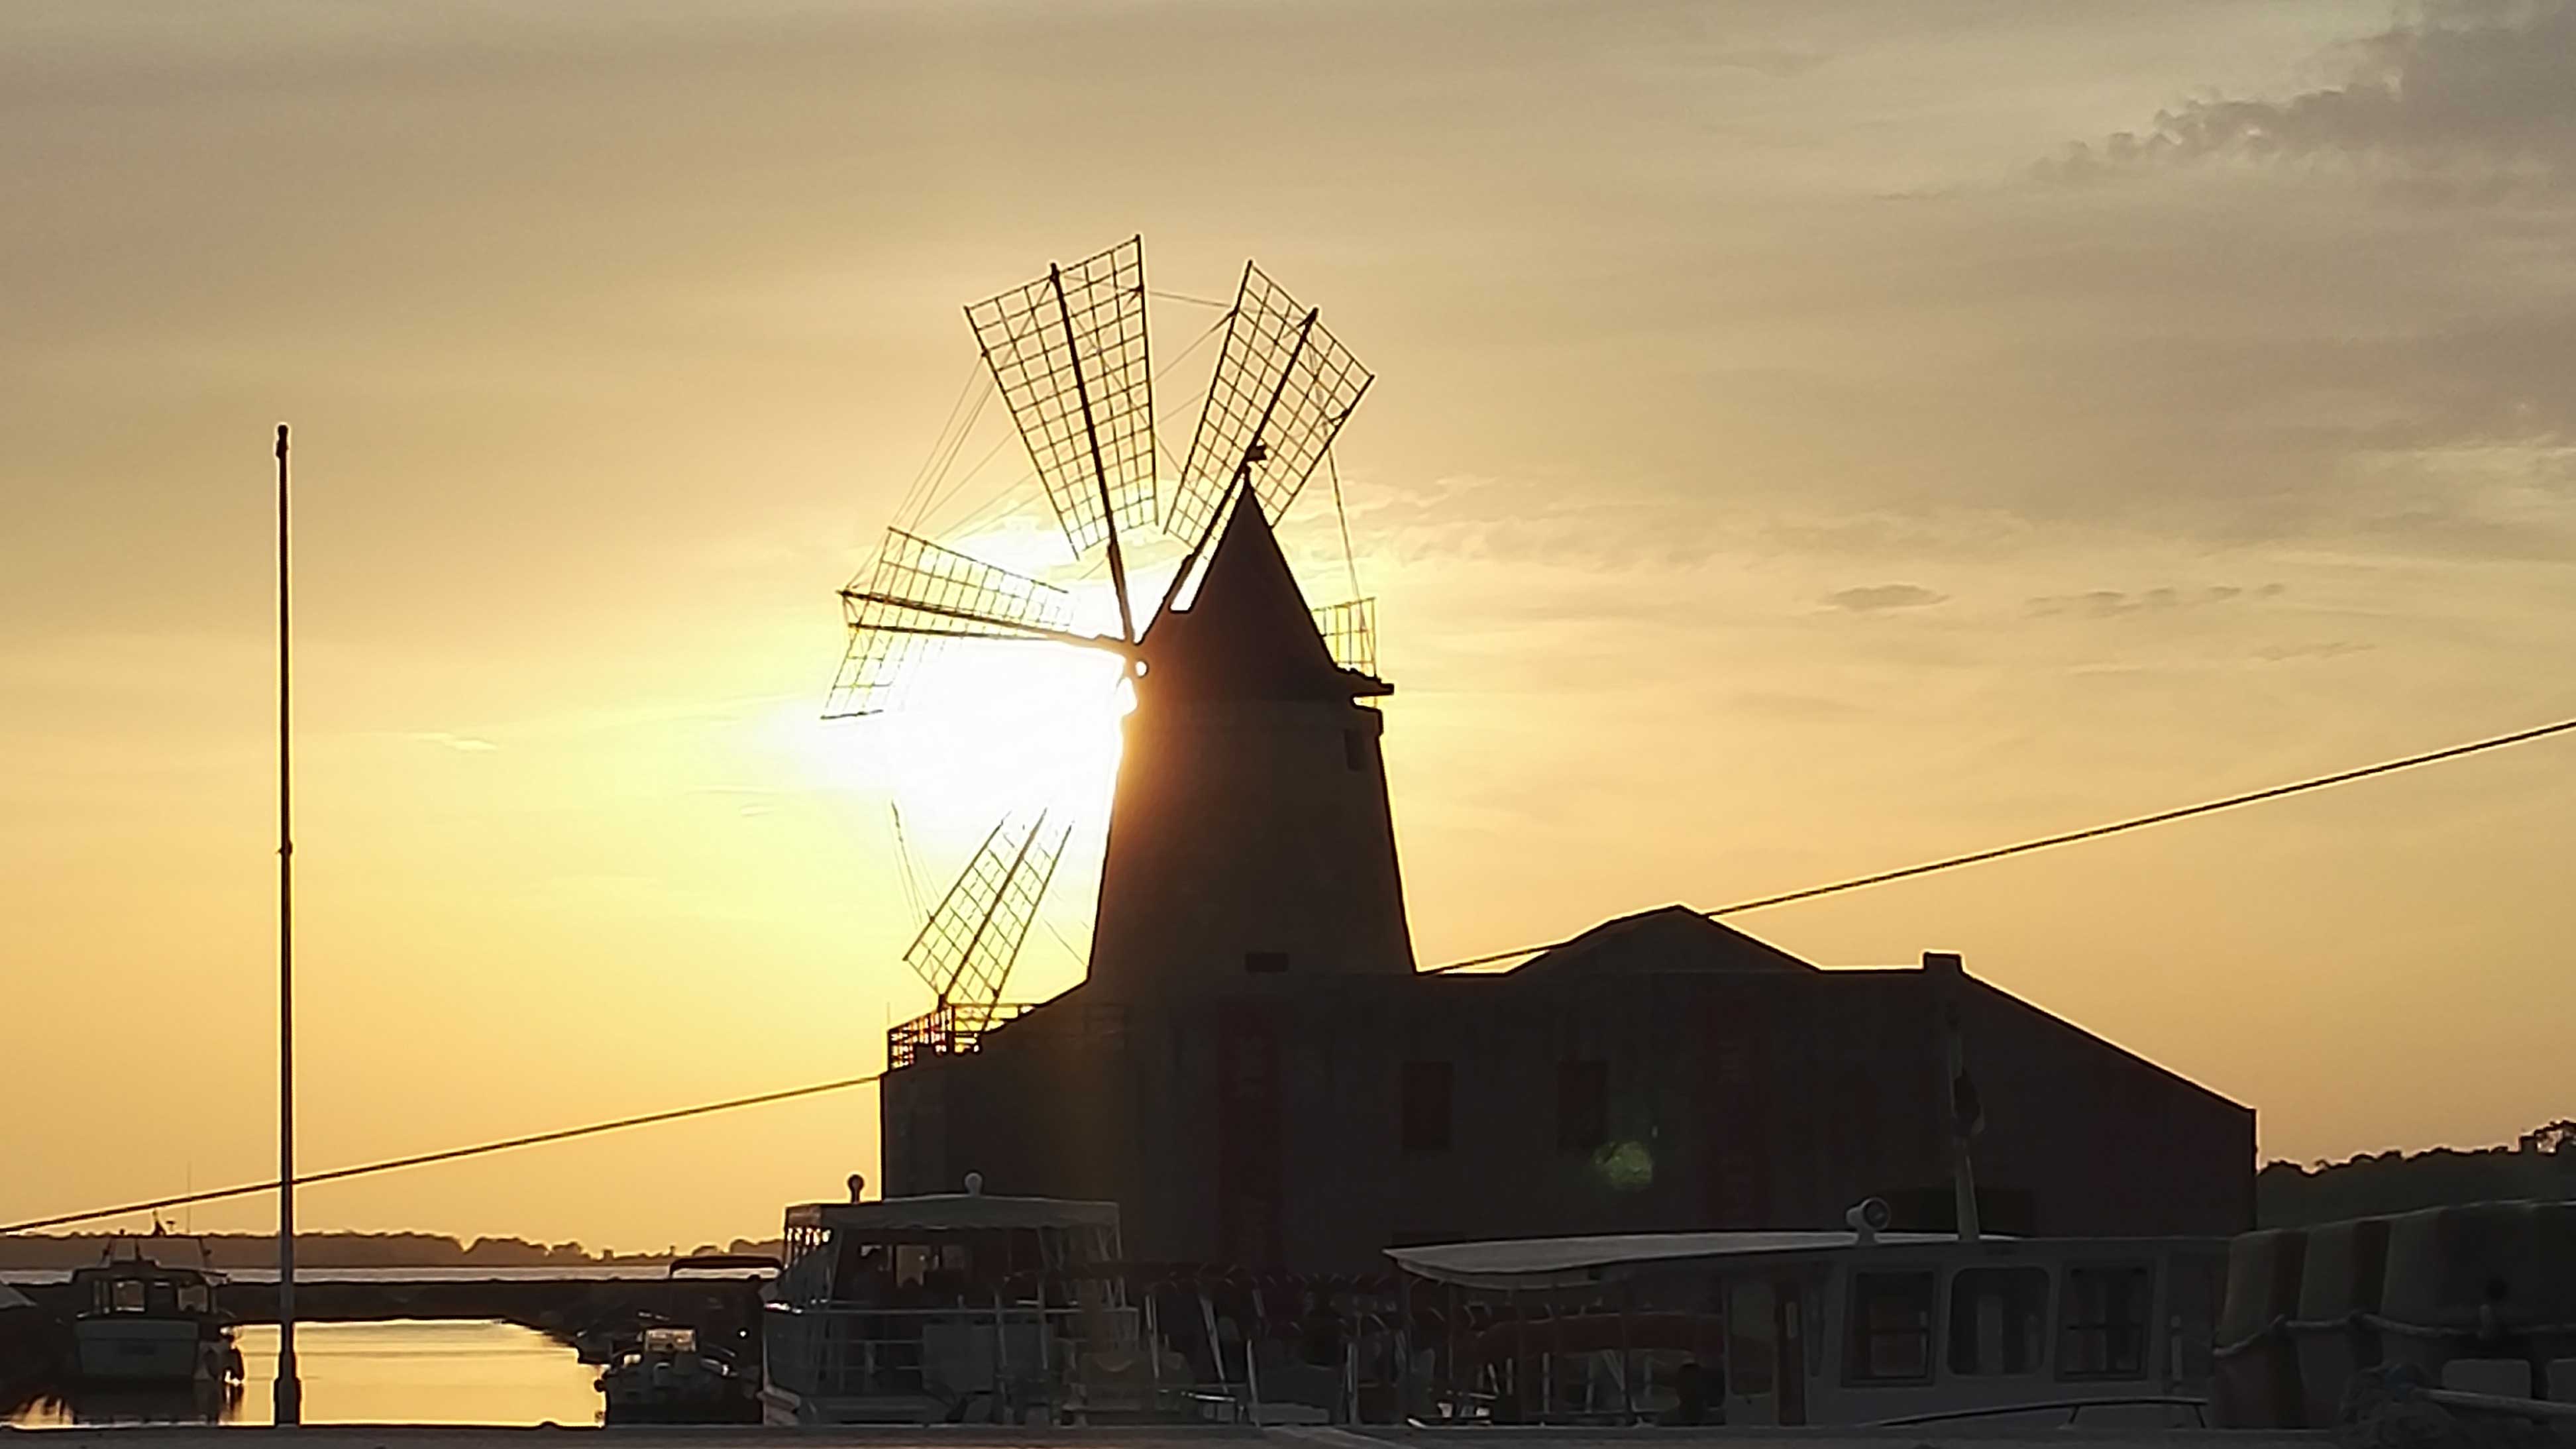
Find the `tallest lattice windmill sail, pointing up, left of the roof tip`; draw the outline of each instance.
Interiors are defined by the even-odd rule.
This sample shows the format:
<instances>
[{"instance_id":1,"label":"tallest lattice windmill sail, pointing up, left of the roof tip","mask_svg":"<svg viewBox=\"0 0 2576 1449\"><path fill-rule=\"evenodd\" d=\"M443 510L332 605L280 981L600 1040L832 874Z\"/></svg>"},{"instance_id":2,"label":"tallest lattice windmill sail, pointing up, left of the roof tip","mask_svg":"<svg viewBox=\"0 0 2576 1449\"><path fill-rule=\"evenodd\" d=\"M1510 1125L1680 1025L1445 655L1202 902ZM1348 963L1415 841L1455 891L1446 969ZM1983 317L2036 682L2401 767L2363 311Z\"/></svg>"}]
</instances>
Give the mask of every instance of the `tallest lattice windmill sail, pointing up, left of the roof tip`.
<instances>
[{"instance_id":1,"label":"tallest lattice windmill sail, pointing up, left of the roof tip","mask_svg":"<svg viewBox=\"0 0 2576 1449\"><path fill-rule=\"evenodd\" d=\"M966 307L966 322L1020 425L1030 462L1038 464L1038 482L1074 557L1108 539L1110 516L1121 529L1151 529L1159 495L1144 237L987 297ZM1110 516L1100 508L1103 485Z\"/></svg>"}]
</instances>

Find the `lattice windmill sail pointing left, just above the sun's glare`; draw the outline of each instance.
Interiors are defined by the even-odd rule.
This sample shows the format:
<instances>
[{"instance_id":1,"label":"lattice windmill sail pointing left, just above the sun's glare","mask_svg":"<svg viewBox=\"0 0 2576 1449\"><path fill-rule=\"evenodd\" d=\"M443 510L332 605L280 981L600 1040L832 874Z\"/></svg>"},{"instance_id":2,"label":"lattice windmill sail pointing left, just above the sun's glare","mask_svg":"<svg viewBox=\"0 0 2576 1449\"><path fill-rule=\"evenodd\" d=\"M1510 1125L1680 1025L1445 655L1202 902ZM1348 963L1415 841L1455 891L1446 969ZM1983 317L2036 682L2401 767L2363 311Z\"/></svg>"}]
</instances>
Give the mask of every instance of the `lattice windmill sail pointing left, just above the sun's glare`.
<instances>
[{"instance_id":1,"label":"lattice windmill sail pointing left, just above the sun's glare","mask_svg":"<svg viewBox=\"0 0 2576 1449\"><path fill-rule=\"evenodd\" d=\"M824 719L899 709L940 639L1043 639L1074 619L1074 596L930 539L886 529L863 580L840 590L850 650Z\"/></svg>"}]
</instances>

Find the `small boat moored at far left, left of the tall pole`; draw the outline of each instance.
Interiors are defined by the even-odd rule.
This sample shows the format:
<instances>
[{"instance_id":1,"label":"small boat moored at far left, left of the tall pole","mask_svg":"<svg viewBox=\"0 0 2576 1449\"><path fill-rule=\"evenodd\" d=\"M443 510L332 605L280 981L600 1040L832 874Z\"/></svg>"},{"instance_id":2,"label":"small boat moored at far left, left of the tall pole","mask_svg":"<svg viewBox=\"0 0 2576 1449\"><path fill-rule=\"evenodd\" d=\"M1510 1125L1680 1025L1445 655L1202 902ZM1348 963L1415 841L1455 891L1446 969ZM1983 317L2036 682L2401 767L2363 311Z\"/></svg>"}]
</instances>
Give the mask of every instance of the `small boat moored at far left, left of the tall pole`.
<instances>
[{"instance_id":1,"label":"small boat moored at far left, left of the tall pole","mask_svg":"<svg viewBox=\"0 0 2576 1449\"><path fill-rule=\"evenodd\" d=\"M155 1248L147 1253L147 1243ZM165 1261L178 1238L108 1243L106 1261L72 1271L72 1369L88 1385L240 1382L242 1351L216 1307L224 1276L206 1263ZM124 1248L124 1256L118 1256Z\"/></svg>"}]
</instances>

